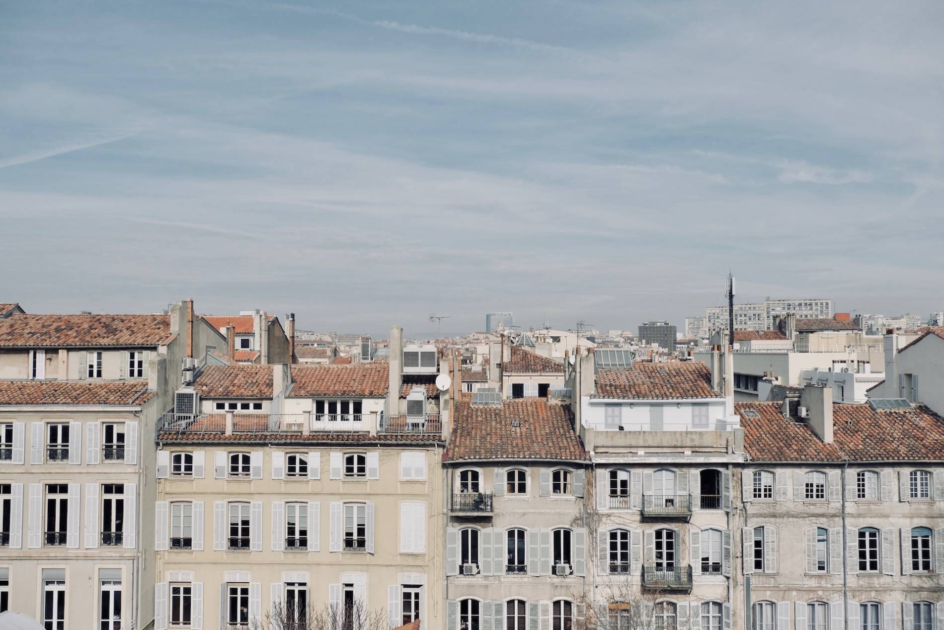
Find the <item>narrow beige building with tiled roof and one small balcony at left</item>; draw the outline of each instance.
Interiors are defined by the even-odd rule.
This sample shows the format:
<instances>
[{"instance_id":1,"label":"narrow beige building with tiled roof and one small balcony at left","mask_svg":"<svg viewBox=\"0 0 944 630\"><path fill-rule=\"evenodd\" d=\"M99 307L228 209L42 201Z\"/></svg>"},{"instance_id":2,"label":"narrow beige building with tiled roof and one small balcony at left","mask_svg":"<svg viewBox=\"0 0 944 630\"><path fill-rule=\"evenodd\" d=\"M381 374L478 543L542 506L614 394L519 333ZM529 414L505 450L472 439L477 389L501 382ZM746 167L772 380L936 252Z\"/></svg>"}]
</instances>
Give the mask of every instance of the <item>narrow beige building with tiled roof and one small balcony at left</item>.
<instances>
[{"instance_id":1,"label":"narrow beige building with tiled roof and one small balcony at left","mask_svg":"<svg viewBox=\"0 0 944 630\"><path fill-rule=\"evenodd\" d=\"M460 395L443 458L447 630L582 624L588 463L568 406Z\"/></svg>"}]
</instances>

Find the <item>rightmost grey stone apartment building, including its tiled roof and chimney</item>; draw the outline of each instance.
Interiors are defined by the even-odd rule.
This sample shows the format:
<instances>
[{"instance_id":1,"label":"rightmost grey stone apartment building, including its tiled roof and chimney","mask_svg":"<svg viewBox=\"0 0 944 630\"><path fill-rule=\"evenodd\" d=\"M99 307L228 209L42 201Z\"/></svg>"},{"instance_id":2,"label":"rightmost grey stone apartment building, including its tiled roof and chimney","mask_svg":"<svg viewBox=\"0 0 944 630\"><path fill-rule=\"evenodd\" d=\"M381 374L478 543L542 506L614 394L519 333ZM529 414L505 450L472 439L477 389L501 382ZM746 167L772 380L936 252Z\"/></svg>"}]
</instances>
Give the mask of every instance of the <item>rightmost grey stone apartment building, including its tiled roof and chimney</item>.
<instances>
[{"instance_id":1,"label":"rightmost grey stone apartment building, including its tiled roof and chimney","mask_svg":"<svg viewBox=\"0 0 944 630\"><path fill-rule=\"evenodd\" d=\"M740 402L745 627L944 627L944 418L903 400Z\"/></svg>"}]
</instances>

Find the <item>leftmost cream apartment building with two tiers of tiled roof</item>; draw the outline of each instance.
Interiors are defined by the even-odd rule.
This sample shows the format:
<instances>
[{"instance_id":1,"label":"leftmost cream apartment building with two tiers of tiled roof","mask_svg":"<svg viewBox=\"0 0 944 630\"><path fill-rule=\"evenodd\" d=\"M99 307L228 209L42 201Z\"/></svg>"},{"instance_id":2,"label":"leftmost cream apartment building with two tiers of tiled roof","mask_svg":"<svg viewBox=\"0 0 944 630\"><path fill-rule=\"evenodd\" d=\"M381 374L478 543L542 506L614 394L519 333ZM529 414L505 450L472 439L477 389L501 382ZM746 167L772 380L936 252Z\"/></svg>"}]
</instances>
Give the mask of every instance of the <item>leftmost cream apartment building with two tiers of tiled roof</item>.
<instances>
[{"instance_id":1,"label":"leftmost cream apartment building with two tiers of tiled roof","mask_svg":"<svg viewBox=\"0 0 944 630\"><path fill-rule=\"evenodd\" d=\"M151 436L184 360L221 343L193 302L0 319L0 602L51 630L151 622Z\"/></svg>"}]
</instances>

